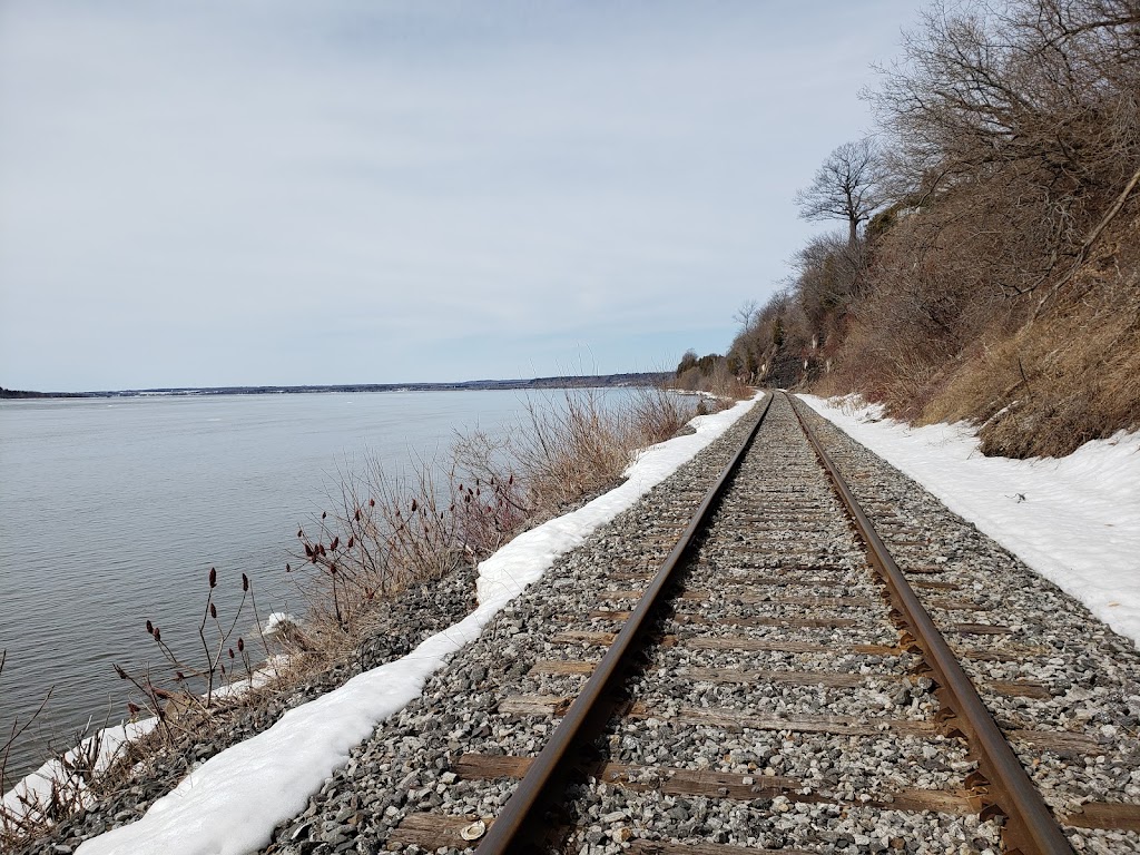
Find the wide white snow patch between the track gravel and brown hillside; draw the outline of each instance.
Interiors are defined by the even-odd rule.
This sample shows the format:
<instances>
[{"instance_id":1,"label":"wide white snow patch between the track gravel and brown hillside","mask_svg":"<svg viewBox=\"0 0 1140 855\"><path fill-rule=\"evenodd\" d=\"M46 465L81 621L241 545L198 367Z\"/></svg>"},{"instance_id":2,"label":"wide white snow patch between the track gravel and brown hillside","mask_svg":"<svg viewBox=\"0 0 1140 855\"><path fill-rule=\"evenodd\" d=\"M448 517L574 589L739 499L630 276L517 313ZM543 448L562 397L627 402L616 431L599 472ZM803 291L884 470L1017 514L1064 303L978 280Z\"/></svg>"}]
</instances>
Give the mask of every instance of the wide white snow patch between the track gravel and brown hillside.
<instances>
[{"instance_id":1,"label":"wide white snow patch between the track gravel and brown hillside","mask_svg":"<svg viewBox=\"0 0 1140 855\"><path fill-rule=\"evenodd\" d=\"M854 399L800 396L1140 648L1140 433L1068 457L985 457L968 424L911 427Z\"/></svg>"}]
</instances>

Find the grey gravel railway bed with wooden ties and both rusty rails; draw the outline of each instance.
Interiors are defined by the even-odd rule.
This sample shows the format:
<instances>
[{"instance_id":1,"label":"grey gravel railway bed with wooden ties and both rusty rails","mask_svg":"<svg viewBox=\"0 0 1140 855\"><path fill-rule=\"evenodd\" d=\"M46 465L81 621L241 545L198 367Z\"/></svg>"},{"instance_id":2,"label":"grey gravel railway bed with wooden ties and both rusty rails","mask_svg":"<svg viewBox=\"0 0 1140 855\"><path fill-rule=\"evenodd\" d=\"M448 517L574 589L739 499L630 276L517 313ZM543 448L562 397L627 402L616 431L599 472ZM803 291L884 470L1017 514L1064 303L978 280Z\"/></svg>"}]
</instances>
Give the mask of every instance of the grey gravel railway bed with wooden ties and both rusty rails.
<instances>
[{"instance_id":1,"label":"grey gravel railway bed with wooden ties and both rusty rails","mask_svg":"<svg viewBox=\"0 0 1140 855\"><path fill-rule=\"evenodd\" d=\"M755 416L506 610L269 850L1140 852L1134 649L803 405L764 408L720 497Z\"/></svg>"}]
</instances>

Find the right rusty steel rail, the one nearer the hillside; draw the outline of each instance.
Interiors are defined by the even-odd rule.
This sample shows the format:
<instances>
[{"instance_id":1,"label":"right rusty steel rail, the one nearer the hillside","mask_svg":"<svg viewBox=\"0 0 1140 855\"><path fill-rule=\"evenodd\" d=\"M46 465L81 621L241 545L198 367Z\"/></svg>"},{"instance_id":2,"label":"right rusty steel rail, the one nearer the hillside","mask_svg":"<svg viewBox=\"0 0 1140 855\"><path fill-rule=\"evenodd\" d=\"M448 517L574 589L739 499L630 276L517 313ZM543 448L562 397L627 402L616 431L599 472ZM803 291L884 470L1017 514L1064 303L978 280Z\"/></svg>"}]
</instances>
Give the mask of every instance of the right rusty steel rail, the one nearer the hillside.
<instances>
[{"instance_id":1,"label":"right rusty steel rail, the one nearer the hillside","mask_svg":"<svg viewBox=\"0 0 1140 855\"><path fill-rule=\"evenodd\" d=\"M974 683L962 670L958 658L890 556L855 495L796 408L791 396L787 392L783 394L866 544L871 563L886 583L891 603L922 650L926 663L939 686L938 698L943 709L948 707L954 716L954 725L977 755L982 779L976 785L979 787L984 801L1005 816L1002 838L1008 855L1074 855L1072 845L1041 792L1033 785Z\"/></svg>"}]
</instances>

